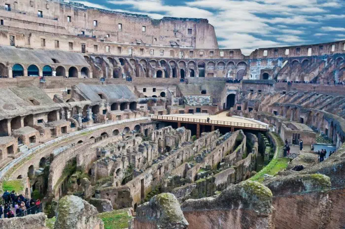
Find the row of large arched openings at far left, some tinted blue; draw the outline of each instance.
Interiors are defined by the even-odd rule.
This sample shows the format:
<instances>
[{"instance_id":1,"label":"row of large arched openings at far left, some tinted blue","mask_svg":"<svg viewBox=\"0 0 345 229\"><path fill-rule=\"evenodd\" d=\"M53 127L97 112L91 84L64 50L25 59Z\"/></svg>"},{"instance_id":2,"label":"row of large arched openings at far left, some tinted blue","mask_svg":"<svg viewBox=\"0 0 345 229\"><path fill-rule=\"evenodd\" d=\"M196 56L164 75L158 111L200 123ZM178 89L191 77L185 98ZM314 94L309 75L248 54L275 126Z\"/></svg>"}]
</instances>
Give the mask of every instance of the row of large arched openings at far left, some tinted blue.
<instances>
[{"instance_id":1,"label":"row of large arched openings at far left, some tinted blue","mask_svg":"<svg viewBox=\"0 0 345 229\"><path fill-rule=\"evenodd\" d=\"M78 69L74 66L69 67L68 75L67 70L64 66L58 66L55 69L56 76L68 76L68 77L78 77ZM28 76L40 76L39 68L36 65L29 65L27 68ZM90 70L88 67L82 67L80 70L82 78L90 77ZM0 75L8 76L8 67L0 63ZM15 64L12 66L12 77L24 76L24 67L20 64ZM45 65L42 68L42 76L53 76L53 67L50 65Z\"/></svg>"}]
</instances>

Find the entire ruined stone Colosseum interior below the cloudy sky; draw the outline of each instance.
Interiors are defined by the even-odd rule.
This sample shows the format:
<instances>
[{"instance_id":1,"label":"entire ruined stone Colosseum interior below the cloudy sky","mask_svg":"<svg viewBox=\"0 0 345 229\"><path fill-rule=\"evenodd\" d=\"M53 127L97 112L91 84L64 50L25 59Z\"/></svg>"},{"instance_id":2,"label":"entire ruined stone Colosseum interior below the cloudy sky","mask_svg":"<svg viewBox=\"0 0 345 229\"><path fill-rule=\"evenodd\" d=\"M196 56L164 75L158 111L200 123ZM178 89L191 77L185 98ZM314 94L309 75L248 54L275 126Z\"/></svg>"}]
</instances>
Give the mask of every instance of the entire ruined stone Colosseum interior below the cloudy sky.
<instances>
[{"instance_id":1,"label":"entire ruined stone Colosseum interior below the cloudy sky","mask_svg":"<svg viewBox=\"0 0 345 229\"><path fill-rule=\"evenodd\" d=\"M345 40L63 0L0 33L0 229L345 229Z\"/></svg>"}]
</instances>

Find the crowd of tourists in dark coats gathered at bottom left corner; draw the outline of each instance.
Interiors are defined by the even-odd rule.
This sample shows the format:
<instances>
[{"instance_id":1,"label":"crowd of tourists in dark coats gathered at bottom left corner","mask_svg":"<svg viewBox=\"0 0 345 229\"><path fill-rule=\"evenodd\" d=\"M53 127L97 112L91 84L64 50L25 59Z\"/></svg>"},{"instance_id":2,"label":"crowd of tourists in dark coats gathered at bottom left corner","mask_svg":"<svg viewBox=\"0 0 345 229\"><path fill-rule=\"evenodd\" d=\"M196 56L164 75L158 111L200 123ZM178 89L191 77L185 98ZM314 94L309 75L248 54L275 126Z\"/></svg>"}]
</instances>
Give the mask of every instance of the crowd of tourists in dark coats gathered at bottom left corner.
<instances>
[{"instance_id":1,"label":"crowd of tourists in dark coats gathered at bottom left corner","mask_svg":"<svg viewBox=\"0 0 345 229\"><path fill-rule=\"evenodd\" d=\"M42 203L39 199L28 199L25 195L17 195L15 191L9 193L6 190L2 195L2 200L4 204L3 206L0 204L0 218L2 215L3 218L22 217L42 211Z\"/></svg>"}]
</instances>

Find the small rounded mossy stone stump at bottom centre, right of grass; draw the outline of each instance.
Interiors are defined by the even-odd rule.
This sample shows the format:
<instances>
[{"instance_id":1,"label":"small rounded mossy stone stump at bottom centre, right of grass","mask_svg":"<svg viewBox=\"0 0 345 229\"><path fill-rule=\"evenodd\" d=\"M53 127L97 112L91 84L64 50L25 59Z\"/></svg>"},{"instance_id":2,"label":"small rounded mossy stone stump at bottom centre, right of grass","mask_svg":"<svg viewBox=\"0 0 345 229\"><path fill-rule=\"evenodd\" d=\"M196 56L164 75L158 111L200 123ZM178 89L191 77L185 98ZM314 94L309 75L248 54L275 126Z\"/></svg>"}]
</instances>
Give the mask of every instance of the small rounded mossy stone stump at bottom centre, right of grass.
<instances>
[{"instance_id":1,"label":"small rounded mossy stone stump at bottom centre, right of grass","mask_svg":"<svg viewBox=\"0 0 345 229\"><path fill-rule=\"evenodd\" d=\"M173 194L153 196L137 208L134 229L187 229L188 222Z\"/></svg>"}]
</instances>

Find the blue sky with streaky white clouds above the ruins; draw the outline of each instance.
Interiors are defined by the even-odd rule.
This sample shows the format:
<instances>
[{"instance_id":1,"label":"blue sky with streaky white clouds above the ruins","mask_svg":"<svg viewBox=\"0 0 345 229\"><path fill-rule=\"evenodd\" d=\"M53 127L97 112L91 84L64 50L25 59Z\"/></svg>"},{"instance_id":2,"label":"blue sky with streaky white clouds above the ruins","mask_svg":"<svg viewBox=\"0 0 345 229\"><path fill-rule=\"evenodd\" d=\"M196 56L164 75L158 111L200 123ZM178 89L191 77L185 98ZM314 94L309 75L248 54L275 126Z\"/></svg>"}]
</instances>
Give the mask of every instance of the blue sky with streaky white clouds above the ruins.
<instances>
[{"instance_id":1,"label":"blue sky with streaky white clouds above the ruins","mask_svg":"<svg viewBox=\"0 0 345 229\"><path fill-rule=\"evenodd\" d=\"M77 0L130 13L207 18L221 48L256 48L345 40L345 0Z\"/></svg>"}]
</instances>

